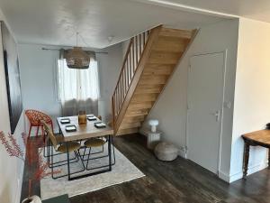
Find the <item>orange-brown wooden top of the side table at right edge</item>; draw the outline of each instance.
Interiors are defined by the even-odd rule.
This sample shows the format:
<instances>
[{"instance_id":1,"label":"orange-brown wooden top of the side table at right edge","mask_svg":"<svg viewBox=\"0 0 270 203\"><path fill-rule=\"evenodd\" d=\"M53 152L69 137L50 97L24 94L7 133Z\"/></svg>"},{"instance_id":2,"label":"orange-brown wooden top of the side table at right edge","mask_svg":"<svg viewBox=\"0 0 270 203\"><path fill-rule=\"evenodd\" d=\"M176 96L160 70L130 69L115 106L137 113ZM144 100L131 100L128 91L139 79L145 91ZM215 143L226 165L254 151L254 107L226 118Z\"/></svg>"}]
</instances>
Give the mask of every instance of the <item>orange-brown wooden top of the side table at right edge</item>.
<instances>
[{"instance_id":1,"label":"orange-brown wooden top of the side table at right edge","mask_svg":"<svg viewBox=\"0 0 270 203\"><path fill-rule=\"evenodd\" d=\"M270 130L260 130L249 134L243 134L242 137L250 142L270 146Z\"/></svg>"}]
</instances>

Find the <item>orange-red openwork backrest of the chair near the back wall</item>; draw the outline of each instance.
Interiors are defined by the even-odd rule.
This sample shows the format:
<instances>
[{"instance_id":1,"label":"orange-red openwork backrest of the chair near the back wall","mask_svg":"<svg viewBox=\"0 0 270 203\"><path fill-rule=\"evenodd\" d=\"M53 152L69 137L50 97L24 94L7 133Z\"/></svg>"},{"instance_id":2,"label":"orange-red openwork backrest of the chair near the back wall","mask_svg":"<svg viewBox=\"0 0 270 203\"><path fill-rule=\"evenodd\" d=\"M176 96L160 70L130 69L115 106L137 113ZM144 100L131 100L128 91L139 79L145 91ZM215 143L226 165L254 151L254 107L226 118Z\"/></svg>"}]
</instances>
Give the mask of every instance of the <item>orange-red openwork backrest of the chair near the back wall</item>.
<instances>
[{"instance_id":1,"label":"orange-red openwork backrest of the chair near the back wall","mask_svg":"<svg viewBox=\"0 0 270 203\"><path fill-rule=\"evenodd\" d=\"M46 115L43 112L40 112L37 110L28 109L25 111L25 115L29 119L31 125L34 125L34 126L39 126L41 120L43 120L47 124L52 123L49 115Z\"/></svg>"}]
</instances>

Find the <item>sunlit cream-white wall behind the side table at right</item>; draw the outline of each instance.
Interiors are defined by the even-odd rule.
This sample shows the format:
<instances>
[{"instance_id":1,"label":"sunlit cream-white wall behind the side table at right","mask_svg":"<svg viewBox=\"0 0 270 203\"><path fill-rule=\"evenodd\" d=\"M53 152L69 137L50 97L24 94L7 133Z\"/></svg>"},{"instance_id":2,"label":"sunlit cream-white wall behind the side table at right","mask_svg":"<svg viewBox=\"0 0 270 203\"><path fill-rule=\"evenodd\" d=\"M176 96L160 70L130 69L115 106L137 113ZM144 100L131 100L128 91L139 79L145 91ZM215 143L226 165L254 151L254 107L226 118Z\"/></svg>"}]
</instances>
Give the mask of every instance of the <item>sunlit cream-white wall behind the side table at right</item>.
<instances>
[{"instance_id":1,"label":"sunlit cream-white wall behind the side table at right","mask_svg":"<svg viewBox=\"0 0 270 203\"><path fill-rule=\"evenodd\" d=\"M231 143L230 180L242 177L241 134L264 129L270 122L270 24L241 18ZM249 173L266 167L266 149L251 147Z\"/></svg>"}]
</instances>

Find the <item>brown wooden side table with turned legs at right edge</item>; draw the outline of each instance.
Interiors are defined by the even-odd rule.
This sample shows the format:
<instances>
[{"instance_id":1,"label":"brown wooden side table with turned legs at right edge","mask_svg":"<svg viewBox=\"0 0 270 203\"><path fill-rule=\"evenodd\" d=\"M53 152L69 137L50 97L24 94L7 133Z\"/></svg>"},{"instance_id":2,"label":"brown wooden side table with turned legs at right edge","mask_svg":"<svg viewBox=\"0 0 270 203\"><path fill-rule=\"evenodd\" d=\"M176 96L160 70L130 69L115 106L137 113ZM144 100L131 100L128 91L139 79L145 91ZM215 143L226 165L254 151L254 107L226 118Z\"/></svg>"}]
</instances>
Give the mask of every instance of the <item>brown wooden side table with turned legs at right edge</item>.
<instances>
[{"instance_id":1,"label":"brown wooden side table with turned legs at right edge","mask_svg":"<svg viewBox=\"0 0 270 203\"><path fill-rule=\"evenodd\" d=\"M247 179L247 167L250 146L262 146L268 148L268 169L270 169L270 130L260 130L249 134L243 134L242 138L245 142L243 159L243 179Z\"/></svg>"}]
</instances>

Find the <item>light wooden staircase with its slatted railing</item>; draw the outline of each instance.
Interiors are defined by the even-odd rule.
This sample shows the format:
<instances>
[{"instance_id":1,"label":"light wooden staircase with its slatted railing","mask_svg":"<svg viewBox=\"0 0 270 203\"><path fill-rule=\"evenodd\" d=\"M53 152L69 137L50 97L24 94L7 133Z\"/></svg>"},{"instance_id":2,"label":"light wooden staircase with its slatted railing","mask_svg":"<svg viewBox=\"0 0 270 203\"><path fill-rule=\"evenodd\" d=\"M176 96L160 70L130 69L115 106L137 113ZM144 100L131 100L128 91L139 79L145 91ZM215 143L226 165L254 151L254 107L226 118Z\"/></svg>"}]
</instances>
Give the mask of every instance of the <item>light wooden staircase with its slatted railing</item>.
<instances>
[{"instance_id":1,"label":"light wooden staircase with its slatted railing","mask_svg":"<svg viewBox=\"0 0 270 203\"><path fill-rule=\"evenodd\" d=\"M112 95L114 134L139 132L194 34L160 25L130 40Z\"/></svg>"}]
</instances>

